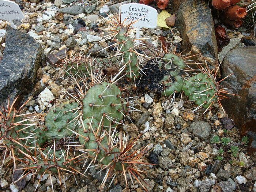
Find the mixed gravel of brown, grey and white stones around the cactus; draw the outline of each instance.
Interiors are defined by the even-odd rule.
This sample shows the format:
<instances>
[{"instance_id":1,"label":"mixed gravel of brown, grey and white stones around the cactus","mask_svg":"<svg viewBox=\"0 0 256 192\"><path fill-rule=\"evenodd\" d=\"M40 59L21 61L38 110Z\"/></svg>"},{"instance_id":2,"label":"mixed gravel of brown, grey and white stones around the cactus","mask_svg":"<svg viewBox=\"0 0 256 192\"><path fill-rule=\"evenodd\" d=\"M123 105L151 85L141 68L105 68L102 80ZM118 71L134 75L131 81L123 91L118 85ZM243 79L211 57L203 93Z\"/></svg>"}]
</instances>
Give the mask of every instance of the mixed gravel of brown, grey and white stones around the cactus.
<instances>
[{"instance_id":1,"label":"mixed gravel of brown, grey and white stones around the cactus","mask_svg":"<svg viewBox=\"0 0 256 192\"><path fill-rule=\"evenodd\" d=\"M23 8L25 15L22 21L14 22L17 29L37 39L44 49L47 61L37 70L37 83L31 95L32 99L26 104L27 112L40 113L47 105L52 105L48 101L55 99L56 103L61 103L67 97L63 94L65 91L74 92L72 84L61 78L63 74L60 68L52 64L59 64L54 54L64 56L65 49L68 50L68 57L91 53L91 58L97 56L95 65L99 72L116 65L116 58L110 57L114 54L112 50L108 48L99 52L106 48L110 41L97 43L107 34L103 28L109 25L106 19L97 14L108 18L105 12L113 15L117 11L118 2L55 0L52 3L44 0L40 3L30 3L17 0L16 3ZM5 47L6 25L8 22L0 20L0 54ZM148 38L143 41L145 46L141 46L140 50L150 56L150 49L160 48L158 37L161 35L170 43L171 48L176 46L177 52L181 47L182 38L176 27L172 30L160 27L142 29L140 35ZM251 34L245 33L245 30L228 30L227 35L242 38ZM152 146L144 155L143 162L157 165L139 165L140 170L144 171L147 183L145 187L148 191L256 191L256 157L248 154L236 125L218 105L215 105L210 114L203 114L204 109L192 112L196 105L184 95L182 98L181 95L176 95L173 101L172 98L163 98L154 91L138 91L133 96L136 97L134 107L139 111L131 112L131 121L127 119L124 123L128 126L122 128L131 140L143 132L133 150L147 144ZM219 138L232 139L231 143L224 147L223 154L218 151L222 144L211 142L216 135ZM230 146L238 147L236 157L232 155ZM218 157L223 159L218 160ZM34 178L26 177L12 184L21 173L13 174L13 162L10 158L6 158L0 165L1 191L35 191L39 175ZM81 169L79 165L76 168ZM54 191L97 192L104 172L100 176L98 168L91 167L88 178L66 173L64 175L61 186L58 176L51 177ZM134 185L128 179L126 189L124 177L119 174L112 185L108 188L106 184L102 191L144 191L136 180L133 182ZM37 190L52 191L48 174L41 178Z\"/></svg>"}]
</instances>

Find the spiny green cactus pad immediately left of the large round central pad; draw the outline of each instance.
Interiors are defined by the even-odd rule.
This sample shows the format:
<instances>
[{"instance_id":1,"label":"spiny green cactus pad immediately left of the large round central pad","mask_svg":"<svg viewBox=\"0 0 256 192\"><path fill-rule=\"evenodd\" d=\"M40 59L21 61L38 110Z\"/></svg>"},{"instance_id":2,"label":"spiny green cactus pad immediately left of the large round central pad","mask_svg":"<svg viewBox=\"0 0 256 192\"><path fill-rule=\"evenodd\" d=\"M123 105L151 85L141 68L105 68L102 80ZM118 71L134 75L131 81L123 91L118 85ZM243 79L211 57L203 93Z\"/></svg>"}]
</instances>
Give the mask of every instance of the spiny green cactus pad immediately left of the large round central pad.
<instances>
[{"instance_id":1,"label":"spiny green cactus pad immediately left of the large round central pad","mask_svg":"<svg viewBox=\"0 0 256 192\"><path fill-rule=\"evenodd\" d=\"M78 108L78 102L68 101L49 110L45 117L45 136L47 141L71 136L73 132L69 129L77 131L78 121L76 117L79 111L76 108Z\"/></svg>"}]
</instances>

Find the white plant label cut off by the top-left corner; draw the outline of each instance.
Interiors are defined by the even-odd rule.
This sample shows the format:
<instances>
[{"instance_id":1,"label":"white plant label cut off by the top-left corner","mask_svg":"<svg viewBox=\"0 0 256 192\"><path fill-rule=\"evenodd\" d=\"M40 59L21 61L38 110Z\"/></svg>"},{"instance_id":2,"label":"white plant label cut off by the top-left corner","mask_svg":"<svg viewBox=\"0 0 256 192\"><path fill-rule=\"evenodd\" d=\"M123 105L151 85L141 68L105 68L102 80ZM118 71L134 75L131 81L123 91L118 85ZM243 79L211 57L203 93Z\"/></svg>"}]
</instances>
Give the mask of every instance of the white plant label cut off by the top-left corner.
<instances>
[{"instance_id":1,"label":"white plant label cut off by the top-left corner","mask_svg":"<svg viewBox=\"0 0 256 192\"><path fill-rule=\"evenodd\" d=\"M24 15L15 2L8 0L0 0L0 19L8 20L13 28L16 29L12 20L24 19Z\"/></svg>"}]
</instances>

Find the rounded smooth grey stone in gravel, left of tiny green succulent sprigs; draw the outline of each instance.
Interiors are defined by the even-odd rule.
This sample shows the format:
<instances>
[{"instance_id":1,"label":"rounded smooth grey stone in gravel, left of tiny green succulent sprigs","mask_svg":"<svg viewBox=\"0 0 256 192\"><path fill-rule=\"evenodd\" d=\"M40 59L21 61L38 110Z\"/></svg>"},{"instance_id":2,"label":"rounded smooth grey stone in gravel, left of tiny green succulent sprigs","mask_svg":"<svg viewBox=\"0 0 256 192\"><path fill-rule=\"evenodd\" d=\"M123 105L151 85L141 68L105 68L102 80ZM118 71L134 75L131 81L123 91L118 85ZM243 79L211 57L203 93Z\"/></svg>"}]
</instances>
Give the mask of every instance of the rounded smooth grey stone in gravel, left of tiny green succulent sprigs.
<instances>
[{"instance_id":1,"label":"rounded smooth grey stone in gravel, left of tiny green succulent sprigs","mask_svg":"<svg viewBox=\"0 0 256 192\"><path fill-rule=\"evenodd\" d=\"M189 131L197 135L200 139L206 140L210 136L211 126L205 121L195 121L190 125Z\"/></svg>"}]
</instances>

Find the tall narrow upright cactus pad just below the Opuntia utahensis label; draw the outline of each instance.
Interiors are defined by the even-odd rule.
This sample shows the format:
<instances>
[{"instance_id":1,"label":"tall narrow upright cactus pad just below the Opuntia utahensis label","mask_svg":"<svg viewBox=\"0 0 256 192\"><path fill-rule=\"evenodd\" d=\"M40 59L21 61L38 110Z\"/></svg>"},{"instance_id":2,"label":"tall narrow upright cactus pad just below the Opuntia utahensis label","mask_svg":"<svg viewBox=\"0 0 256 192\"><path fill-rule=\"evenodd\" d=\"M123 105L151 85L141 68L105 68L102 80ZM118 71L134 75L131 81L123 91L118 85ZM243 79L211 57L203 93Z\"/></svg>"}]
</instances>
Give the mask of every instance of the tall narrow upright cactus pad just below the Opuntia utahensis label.
<instances>
[{"instance_id":1,"label":"tall narrow upright cactus pad just below the Opuntia utahensis label","mask_svg":"<svg viewBox=\"0 0 256 192\"><path fill-rule=\"evenodd\" d=\"M138 66L138 58L135 52L133 52L133 41L132 39L127 35L127 29L125 27L117 27L116 30L119 30L119 33L117 34L117 39L119 43L121 43L121 52L124 52L124 64L127 64L126 66L126 77L128 79L134 80L137 79L140 76L139 68Z\"/></svg>"}]
</instances>

